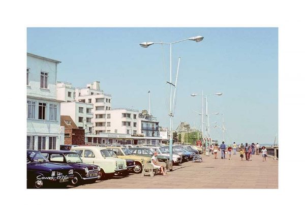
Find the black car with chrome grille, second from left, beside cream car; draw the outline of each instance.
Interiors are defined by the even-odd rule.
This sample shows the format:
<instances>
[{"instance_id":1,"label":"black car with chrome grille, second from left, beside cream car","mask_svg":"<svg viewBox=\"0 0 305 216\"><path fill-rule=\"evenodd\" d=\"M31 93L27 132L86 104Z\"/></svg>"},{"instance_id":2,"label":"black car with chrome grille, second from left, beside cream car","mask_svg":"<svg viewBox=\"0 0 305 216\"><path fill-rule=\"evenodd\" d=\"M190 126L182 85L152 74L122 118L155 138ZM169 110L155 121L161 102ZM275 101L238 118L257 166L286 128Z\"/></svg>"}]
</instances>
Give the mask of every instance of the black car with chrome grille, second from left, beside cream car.
<instances>
[{"instance_id":1,"label":"black car with chrome grille, second from left, beside cream car","mask_svg":"<svg viewBox=\"0 0 305 216\"><path fill-rule=\"evenodd\" d=\"M74 169L74 177L71 179L72 185L76 186L83 183L94 183L101 178L99 175L101 167L92 164L82 163L78 153L63 150L42 150L42 155L50 162L66 164Z\"/></svg>"}]
</instances>

